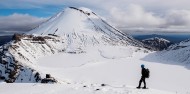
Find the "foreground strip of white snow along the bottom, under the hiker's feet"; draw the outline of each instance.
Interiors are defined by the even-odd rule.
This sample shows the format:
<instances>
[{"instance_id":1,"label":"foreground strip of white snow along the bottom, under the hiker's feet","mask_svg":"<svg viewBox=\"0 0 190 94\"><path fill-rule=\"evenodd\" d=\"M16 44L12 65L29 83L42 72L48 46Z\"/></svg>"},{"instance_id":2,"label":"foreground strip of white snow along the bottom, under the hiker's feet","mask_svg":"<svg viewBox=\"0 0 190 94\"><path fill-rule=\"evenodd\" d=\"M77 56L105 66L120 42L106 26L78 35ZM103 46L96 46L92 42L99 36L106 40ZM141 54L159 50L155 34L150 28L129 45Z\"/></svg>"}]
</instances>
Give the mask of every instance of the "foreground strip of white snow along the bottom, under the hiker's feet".
<instances>
[{"instance_id":1,"label":"foreground strip of white snow along the bottom, under the hiker's feet","mask_svg":"<svg viewBox=\"0 0 190 94\"><path fill-rule=\"evenodd\" d=\"M139 90L131 87L72 84L0 84L3 94L174 94L160 90ZM9 89L9 90L7 90Z\"/></svg>"}]
</instances>

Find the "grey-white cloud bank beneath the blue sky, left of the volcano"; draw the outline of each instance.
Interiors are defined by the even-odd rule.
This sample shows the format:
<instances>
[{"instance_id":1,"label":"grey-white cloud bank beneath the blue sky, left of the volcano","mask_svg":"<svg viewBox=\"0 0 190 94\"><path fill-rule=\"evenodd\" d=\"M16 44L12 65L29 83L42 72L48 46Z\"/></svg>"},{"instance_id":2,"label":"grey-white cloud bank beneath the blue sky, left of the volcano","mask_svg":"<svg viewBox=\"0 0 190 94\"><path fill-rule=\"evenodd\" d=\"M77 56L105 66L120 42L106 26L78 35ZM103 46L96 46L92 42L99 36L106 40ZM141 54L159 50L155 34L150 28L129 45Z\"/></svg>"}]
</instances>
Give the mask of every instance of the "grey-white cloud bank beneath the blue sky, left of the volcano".
<instances>
[{"instance_id":1,"label":"grey-white cloud bank beneath the blue sky, left of the volcano","mask_svg":"<svg viewBox=\"0 0 190 94\"><path fill-rule=\"evenodd\" d=\"M12 14L9 16L0 16L1 32L27 32L38 26L47 18L38 18L28 14Z\"/></svg>"}]
</instances>

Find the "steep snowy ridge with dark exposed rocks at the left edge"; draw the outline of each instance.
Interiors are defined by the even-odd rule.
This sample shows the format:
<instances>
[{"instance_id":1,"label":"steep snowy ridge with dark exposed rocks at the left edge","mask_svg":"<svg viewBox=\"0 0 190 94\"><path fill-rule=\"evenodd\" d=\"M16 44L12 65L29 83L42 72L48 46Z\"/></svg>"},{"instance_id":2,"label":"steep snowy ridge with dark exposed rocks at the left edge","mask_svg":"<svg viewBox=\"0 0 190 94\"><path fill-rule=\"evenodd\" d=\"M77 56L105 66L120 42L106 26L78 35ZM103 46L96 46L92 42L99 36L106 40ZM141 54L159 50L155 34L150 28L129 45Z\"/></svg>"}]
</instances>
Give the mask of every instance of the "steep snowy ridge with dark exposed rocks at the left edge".
<instances>
[{"instance_id":1,"label":"steep snowy ridge with dark exposed rocks at the left edge","mask_svg":"<svg viewBox=\"0 0 190 94\"><path fill-rule=\"evenodd\" d=\"M57 41L48 36L14 35L0 51L1 78L10 83L41 82L45 77L37 70L35 60L61 51Z\"/></svg>"}]
</instances>

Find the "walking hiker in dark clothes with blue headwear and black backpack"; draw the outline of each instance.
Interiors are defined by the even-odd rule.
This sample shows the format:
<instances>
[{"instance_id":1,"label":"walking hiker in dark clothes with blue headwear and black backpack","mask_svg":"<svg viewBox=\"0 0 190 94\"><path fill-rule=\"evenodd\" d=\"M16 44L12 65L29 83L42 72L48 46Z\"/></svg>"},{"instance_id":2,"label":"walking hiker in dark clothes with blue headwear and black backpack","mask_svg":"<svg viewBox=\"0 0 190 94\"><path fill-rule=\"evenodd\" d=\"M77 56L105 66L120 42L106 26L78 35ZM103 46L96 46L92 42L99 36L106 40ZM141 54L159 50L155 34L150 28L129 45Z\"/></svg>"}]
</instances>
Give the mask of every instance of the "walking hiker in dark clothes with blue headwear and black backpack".
<instances>
[{"instance_id":1,"label":"walking hiker in dark clothes with blue headwear and black backpack","mask_svg":"<svg viewBox=\"0 0 190 94\"><path fill-rule=\"evenodd\" d=\"M137 88L140 89L141 88L141 83L143 82L144 83L143 89L146 89L146 81L145 81L145 79L149 77L149 70L145 69L144 64L141 65L141 68L142 68L142 71L141 71L142 76L141 76L141 79L139 81L139 86Z\"/></svg>"}]
</instances>

